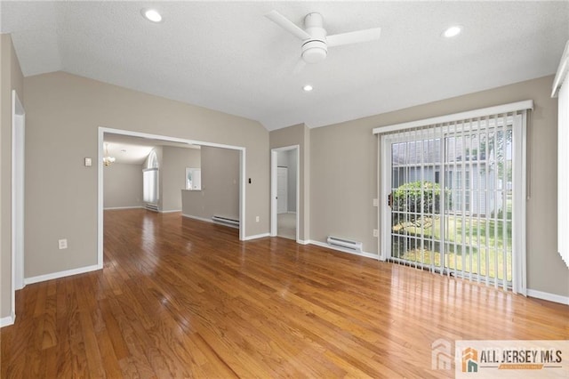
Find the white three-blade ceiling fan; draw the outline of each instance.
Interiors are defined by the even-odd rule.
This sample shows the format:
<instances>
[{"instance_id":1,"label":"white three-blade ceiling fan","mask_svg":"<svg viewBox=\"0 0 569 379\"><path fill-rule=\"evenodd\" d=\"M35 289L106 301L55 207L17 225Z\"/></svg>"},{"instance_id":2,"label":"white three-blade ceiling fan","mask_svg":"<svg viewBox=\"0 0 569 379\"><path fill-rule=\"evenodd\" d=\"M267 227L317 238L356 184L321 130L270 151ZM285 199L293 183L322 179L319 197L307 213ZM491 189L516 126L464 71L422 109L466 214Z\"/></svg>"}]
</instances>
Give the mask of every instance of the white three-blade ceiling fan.
<instances>
[{"instance_id":1,"label":"white three-blade ceiling fan","mask_svg":"<svg viewBox=\"0 0 569 379\"><path fill-rule=\"evenodd\" d=\"M328 47L342 44L359 44L379 39L381 28L370 28L348 33L327 36L324 28L324 18L320 13L312 12L304 17L304 29L298 27L276 11L268 12L265 17L275 22L281 28L298 37L302 41L302 60L306 63L317 63L325 60Z\"/></svg>"}]
</instances>

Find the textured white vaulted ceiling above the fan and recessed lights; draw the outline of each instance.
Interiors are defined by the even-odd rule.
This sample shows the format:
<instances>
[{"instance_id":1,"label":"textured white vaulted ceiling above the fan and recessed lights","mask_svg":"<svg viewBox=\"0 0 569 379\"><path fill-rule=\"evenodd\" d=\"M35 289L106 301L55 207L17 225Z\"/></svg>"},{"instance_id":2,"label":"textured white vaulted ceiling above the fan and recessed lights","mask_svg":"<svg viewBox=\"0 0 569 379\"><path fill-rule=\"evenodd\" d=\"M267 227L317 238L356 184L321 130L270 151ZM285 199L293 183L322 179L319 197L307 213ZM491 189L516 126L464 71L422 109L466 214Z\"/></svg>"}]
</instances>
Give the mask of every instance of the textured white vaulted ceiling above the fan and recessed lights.
<instances>
[{"instance_id":1,"label":"textured white vaulted ceiling above the fan and recessed lights","mask_svg":"<svg viewBox=\"0 0 569 379\"><path fill-rule=\"evenodd\" d=\"M154 24L140 15L158 9ZM555 73L569 2L0 2L25 76L63 70L260 121L331 125ZM329 34L381 27L293 74L301 43L266 19ZM441 32L461 24L463 32ZM302 92L310 83L315 90Z\"/></svg>"}]
</instances>

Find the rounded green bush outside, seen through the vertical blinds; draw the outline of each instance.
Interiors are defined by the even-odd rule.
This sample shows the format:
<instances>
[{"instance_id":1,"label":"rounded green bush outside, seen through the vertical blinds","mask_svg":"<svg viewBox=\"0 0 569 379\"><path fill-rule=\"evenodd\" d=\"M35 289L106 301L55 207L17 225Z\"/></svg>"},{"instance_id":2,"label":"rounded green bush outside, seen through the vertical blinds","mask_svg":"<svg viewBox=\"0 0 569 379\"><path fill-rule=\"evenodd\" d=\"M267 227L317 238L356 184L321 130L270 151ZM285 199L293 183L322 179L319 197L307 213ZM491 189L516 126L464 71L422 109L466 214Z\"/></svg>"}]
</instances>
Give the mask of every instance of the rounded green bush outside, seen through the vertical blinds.
<instances>
[{"instance_id":1,"label":"rounded green bush outside, seen through the vertical blinds","mask_svg":"<svg viewBox=\"0 0 569 379\"><path fill-rule=\"evenodd\" d=\"M393 192L394 212L424 214L440 212L441 187L433 181L411 181L399 186ZM450 189L445 191L447 208L452 205Z\"/></svg>"}]
</instances>

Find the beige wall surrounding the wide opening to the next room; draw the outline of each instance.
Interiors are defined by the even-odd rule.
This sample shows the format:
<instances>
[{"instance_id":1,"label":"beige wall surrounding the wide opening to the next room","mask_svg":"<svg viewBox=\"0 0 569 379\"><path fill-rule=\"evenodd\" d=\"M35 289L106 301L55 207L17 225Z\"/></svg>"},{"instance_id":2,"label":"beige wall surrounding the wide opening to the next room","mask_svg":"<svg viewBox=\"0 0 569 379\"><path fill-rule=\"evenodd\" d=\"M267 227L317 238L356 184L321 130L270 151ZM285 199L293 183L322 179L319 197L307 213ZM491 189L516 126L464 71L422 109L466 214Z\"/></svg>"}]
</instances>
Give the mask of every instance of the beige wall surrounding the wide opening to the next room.
<instances>
[{"instance_id":1,"label":"beige wall surrounding the wide opening to the next room","mask_svg":"<svg viewBox=\"0 0 569 379\"><path fill-rule=\"evenodd\" d=\"M244 147L245 232L268 231L268 132L258 122L63 72L24 83L27 278L97 263L97 167L83 158L97 157L100 126Z\"/></svg>"}]
</instances>

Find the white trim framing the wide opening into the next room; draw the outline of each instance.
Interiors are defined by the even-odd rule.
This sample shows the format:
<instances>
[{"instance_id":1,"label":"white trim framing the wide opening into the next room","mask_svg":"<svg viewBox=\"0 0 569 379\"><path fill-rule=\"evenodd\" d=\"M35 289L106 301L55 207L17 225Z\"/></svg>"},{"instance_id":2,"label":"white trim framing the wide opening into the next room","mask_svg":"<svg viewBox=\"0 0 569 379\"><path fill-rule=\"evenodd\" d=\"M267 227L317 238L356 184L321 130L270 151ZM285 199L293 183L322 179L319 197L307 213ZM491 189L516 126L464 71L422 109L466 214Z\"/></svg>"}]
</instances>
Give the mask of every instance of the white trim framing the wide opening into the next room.
<instances>
[{"instance_id":1,"label":"white trim framing the wide opening into the next room","mask_svg":"<svg viewBox=\"0 0 569 379\"><path fill-rule=\"evenodd\" d=\"M166 135L132 132L128 130L99 127L99 145L97 158L97 266L103 267L103 141L104 134L121 134L131 137L141 137L153 140L188 143L193 145L209 146L212 148L233 149L239 151L239 240L245 240L245 153L246 149L241 146L224 145L204 141L186 140L183 138L169 137Z\"/></svg>"}]
</instances>

